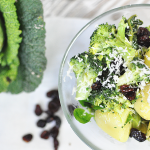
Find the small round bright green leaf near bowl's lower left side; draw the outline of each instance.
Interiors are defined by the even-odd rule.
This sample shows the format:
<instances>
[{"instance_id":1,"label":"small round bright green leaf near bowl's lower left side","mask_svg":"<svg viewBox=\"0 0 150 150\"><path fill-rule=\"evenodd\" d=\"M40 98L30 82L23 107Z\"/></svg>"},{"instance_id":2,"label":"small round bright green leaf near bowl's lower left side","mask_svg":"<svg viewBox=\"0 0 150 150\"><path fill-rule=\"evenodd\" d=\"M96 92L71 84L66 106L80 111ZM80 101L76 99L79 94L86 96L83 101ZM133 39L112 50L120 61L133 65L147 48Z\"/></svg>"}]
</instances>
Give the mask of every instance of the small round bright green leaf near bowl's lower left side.
<instances>
[{"instance_id":1,"label":"small round bright green leaf near bowl's lower left side","mask_svg":"<svg viewBox=\"0 0 150 150\"><path fill-rule=\"evenodd\" d=\"M88 123L91 118L94 117L94 115L85 112L85 110L82 108L76 108L73 112L73 115L77 121L83 124Z\"/></svg>"}]
</instances>

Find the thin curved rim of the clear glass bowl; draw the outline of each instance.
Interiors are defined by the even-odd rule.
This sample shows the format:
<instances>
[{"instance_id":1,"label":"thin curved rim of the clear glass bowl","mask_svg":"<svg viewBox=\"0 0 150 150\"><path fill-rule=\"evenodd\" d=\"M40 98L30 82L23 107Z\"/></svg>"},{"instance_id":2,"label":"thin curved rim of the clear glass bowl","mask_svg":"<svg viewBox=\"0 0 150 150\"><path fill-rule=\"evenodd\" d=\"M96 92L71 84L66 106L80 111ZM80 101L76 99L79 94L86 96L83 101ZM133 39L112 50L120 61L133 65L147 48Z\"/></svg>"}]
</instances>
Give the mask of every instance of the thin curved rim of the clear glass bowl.
<instances>
[{"instance_id":1,"label":"thin curved rim of the clear glass bowl","mask_svg":"<svg viewBox=\"0 0 150 150\"><path fill-rule=\"evenodd\" d=\"M66 58L67 55L72 47L72 45L74 44L74 42L76 41L76 39L82 34L83 31L85 31L92 23L94 23L95 21L99 20L100 18L106 16L107 14L113 13L115 11L119 11L119 10L123 10L123 9L128 9L128 8L133 8L133 7L150 7L150 4L131 4L131 5L126 5L126 6L121 6L121 7L117 7L114 9L111 9L109 11L106 11L105 13L102 13L101 15L97 16L96 18L92 19L90 22L88 22L83 28L81 28L81 30L75 35L75 37L72 39L72 41L70 42L69 46L66 49L66 52L63 56L61 65L60 65L60 69L59 69L59 77L58 77L58 91L59 91L59 98L60 98L60 102L61 102L61 106L62 106L62 110L65 114L65 117L68 121L68 123L70 124L71 128L73 129L73 131L75 132L75 134L91 149L93 150L97 150L97 147L94 146L91 142L89 142L87 139L84 138L84 136L78 131L78 129L76 128L76 126L72 123L70 117L68 117L68 113L65 109L65 104L64 104L64 100L63 100L63 94L62 94L62 72L63 72L63 67L64 64L66 62ZM100 149L98 149L100 150ZM102 149L101 149L102 150Z\"/></svg>"}]
</instances>

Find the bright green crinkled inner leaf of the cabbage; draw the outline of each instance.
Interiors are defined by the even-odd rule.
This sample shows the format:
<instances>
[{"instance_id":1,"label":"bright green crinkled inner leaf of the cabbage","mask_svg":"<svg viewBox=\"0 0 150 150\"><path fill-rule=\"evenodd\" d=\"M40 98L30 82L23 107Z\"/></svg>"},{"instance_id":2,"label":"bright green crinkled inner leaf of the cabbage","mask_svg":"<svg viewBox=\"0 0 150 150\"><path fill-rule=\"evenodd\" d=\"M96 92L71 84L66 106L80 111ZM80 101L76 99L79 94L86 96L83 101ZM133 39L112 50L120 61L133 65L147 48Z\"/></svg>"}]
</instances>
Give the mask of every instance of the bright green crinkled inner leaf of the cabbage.
<instances>
[{"instance_id":1,"label":"bright green crinkled inner leaf of the cabbage","mask_svg":"<svg viewBox=\"0 0 150 150\"><path fill-rule=\"evenodd\" d=\"M10 82L15 80L19 66L17 55L22 38L19 37L21 30L14 3L15 0L0 1L0 16L5 23L3 32L7 36L7 42L4 41L5 45L0 53L0 92L6 91Z\"/></svg>"}]
</instances>

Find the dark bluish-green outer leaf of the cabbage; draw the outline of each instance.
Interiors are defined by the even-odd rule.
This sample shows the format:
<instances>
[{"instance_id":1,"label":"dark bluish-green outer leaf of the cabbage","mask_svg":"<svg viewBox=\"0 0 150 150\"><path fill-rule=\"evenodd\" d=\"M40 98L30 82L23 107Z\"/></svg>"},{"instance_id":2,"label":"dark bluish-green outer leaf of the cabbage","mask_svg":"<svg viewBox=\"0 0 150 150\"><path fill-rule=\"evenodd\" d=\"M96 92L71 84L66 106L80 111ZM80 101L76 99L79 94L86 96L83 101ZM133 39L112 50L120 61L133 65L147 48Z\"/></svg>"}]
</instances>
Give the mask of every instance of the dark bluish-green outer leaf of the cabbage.
<instances>
[{"instance_id":1,"label":"dark bluish-green outer leaf of the cabbage","mask_svg":"<svg viewBox=\"0 0 150 150\"><path fill-rule=\"evenodd\" d=\"M42 3L40 0L18 0L16 7L23 40L19 48L18 75L8 91L31 92L41 83L46 68Z\"/></svg>"}]
</instances>

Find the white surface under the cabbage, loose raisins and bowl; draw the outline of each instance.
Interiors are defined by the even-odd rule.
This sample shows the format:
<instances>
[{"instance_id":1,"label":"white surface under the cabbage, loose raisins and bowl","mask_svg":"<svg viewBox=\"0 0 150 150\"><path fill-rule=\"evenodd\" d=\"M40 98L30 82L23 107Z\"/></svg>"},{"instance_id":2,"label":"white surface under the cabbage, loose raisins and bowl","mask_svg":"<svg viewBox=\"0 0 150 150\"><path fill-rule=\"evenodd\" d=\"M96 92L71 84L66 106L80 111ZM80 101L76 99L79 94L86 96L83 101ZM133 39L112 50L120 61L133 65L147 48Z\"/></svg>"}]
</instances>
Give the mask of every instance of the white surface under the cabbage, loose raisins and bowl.
<instances>
[{"instance_id":1,"label":"white surface under the cabbage, loose raisins and bowl","mask_svg":"<svg viewBox=\"0 0 150 150\"><path fill-rule=\"evenodd\" d=\"M57 88L59 66L63 54L75 34L88 22L86 19L46 18L46 57L47 68L40 86L32 93L11 95L0 94L0 150L53 150L52 138L43 140L40 133L43 129L36 126L39 118L34 114L38 103L46 110L49 99L46 92ZM60 110L57 113L62 119L58 140L58 150L90 150L73 132ZM50 129L48 124L44 129ZM22 136L33 134L33 140L25 143Z\"/></svg>"}]
</instances>

